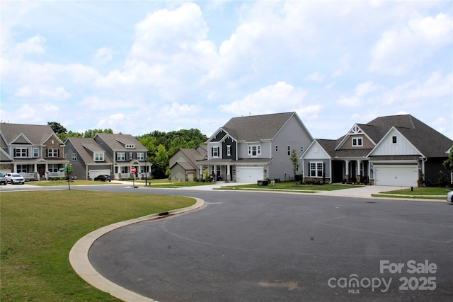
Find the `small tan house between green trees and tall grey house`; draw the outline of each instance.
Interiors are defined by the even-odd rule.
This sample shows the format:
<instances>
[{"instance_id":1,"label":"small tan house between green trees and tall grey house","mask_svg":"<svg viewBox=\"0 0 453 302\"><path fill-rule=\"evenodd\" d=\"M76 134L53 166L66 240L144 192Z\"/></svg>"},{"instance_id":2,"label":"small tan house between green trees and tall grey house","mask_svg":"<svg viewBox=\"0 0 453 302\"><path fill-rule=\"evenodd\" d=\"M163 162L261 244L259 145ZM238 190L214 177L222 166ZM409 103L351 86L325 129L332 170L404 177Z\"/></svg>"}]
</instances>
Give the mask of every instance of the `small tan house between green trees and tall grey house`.
<instances>
[{"instance_id":1,"label":"small tan house between green trees and tall grey house","mask_svg":"<svg viewBox=\"0 0 453 302\"><path fill-rule=\"evenodd\" d=\"M197 161L207 159L207 146L197 148L182 148L176 151L169 159L171 179L180 181L193 181L200 177L200 165Z\"/></svg>"}]
</instances>

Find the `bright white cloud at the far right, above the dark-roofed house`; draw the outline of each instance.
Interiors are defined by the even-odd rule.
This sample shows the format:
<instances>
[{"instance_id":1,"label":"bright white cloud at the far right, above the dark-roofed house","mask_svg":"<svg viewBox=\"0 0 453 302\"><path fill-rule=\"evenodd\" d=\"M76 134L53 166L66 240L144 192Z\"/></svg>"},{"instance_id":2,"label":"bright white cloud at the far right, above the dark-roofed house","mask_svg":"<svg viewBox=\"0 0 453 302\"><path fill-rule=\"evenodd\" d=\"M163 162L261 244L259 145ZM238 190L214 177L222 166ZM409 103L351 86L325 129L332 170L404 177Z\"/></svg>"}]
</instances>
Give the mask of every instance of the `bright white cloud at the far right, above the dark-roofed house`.
<instances>
[{"instance_id":1,"label":"bright white cloud at the far right, above the dark-roofed house","mask_svg":"<svg viewBox=\"0 0 453 302\"><path fill-rule=\"evenodd\" d=\"M371 51L371 71L406 74L441 47L452 42L452 18L439 13L435 18L414 14L402 28L387 30Z\"/></svg>"}]
</instances>

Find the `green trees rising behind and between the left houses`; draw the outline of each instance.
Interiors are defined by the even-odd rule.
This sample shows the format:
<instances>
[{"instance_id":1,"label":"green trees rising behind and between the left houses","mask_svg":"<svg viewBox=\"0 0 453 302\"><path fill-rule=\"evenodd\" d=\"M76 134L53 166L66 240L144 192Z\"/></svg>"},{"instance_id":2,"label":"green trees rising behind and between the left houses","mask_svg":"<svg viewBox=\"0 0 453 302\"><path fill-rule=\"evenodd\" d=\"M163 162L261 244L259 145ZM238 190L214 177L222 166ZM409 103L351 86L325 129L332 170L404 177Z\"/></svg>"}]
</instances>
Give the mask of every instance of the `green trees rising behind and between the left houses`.
<instances>
[{"instance_id":1,"label":"green trees rising behind and between the left houses","mask_svg":"<svg viewBox=\"0 0 453 302\"><path fill-rule=\"evenodd\" d=\"M67 130L59 122L47 122L59 139L66 141L69 137L93 138L96 133L113 134L112 129L88 129L84 133ZM148 151L147 159L152 165L154 178L165 178L169 175L168 160L181 148L196 148L205 144L207 137L199 129L181 129L171 132L154 131L149 134L135 136Z\"/></svg>"}]
</instances>

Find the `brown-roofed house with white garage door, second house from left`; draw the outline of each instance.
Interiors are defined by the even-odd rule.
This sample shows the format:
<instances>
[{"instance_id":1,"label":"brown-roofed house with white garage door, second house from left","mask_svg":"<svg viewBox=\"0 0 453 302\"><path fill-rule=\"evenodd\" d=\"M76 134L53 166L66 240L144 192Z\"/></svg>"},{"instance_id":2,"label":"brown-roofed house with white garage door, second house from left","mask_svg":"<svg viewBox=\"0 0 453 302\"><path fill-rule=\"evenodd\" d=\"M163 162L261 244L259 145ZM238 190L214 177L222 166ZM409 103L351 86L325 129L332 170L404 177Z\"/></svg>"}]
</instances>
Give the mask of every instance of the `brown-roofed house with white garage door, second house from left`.
<instances>
[{"instance_id":1,"label":"brown-roofed house with white garage door, second house from left","mask_svg":"<svg viewBox=\"0 0 453 302\"><path fill-rule=\"evenodd\" d=\"M113 161L91 138L69 137L64 152L72 165L72 175L79 180L93 180L98 175L113 175Z\"/></svg>"}]
</instances>

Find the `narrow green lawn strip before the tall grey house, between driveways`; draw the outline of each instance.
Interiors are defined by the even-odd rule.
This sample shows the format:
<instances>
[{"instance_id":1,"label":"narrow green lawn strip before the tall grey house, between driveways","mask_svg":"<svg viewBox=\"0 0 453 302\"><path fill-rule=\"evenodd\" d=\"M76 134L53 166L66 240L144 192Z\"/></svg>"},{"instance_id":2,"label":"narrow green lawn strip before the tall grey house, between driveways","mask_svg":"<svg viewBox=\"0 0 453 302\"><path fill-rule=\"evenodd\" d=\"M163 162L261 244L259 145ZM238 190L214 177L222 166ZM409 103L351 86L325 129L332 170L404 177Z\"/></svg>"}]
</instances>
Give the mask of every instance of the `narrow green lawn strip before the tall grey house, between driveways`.
<instances>
[{"instance_id":1,"label":"narrow green lawn strip before the tall grey house, between driveways","mask_svg":"<svg viewBox=\"0 0 453 302\"><path fill-rule=\"evenodd\" d=\"M276 182L275 185L234 185L234 184L225 184L223 189L234 189L234 190L295 190L295 191L303 191L303 192L319 192L319 191L333 191L333 190L343 190L343 189L352 189L355 187L362 187L360 185L299 185L294 183L293 181L290 182ZM220 188L222 190L222 188Z\"/></svg>"}]
</instances>

